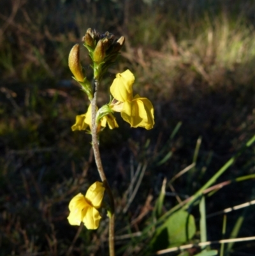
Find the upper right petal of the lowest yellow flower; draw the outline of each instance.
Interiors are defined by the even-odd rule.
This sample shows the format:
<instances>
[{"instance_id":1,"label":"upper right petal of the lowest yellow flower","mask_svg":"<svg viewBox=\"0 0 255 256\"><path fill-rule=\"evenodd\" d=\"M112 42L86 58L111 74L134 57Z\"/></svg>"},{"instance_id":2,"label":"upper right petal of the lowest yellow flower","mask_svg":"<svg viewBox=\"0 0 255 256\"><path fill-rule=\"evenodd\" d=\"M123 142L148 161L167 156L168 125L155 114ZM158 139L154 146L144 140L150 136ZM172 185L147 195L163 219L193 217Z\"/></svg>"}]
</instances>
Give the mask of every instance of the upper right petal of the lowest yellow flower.
<instances>
[{"instance_id":1,"label":"upper right petal of the lowest yellow flower","mask_svg":"<svg viewBox=\"0 0 255 256\"><path fill-rule=\"evenodd\" d=\"M96 181L92 184L85 195L85 199L91 202L92 206L99 208L101 206L105 188L103 183Z\"/></svg>"}]
</instances>

